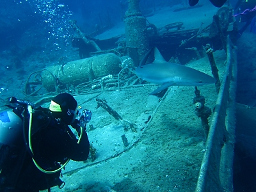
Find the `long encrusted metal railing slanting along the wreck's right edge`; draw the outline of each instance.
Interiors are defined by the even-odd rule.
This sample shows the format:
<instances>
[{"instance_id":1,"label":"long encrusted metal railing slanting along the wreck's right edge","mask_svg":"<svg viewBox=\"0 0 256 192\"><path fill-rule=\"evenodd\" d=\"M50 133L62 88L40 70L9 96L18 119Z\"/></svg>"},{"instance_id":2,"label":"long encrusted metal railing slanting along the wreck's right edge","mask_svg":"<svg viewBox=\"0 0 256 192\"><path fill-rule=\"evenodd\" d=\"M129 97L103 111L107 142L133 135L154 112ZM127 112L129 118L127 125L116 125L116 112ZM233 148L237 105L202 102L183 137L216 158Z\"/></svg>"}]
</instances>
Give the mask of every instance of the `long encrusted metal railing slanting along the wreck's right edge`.
<instances>
[{"instance_id":1,"label":"long encrusted metal railing slanting along the wreck's right edge","mask_svg":"<svg viewBox=\"0 0 256 192\"><path fill-rule=\"evenodd\" d=\"M228 36L226 70L212 114L196 192L233 191L236 79L236 50Z\"/></svg>"}]
</instances>

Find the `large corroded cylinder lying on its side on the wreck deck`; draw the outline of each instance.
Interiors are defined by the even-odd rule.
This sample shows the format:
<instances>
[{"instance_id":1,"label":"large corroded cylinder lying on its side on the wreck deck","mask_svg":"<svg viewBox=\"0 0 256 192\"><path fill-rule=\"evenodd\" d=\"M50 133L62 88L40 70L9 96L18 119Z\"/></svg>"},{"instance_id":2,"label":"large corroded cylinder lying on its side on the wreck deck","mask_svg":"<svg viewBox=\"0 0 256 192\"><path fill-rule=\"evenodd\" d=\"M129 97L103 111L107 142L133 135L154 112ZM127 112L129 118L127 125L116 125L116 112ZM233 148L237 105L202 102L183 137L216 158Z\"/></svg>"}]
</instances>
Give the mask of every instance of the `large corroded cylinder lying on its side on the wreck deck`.
<instances>
[{"instance_id":1,"label":"large corroded cylinder lying on its side on the wreck deck","mask_svg":"<svg viewBox=\"0 0 256 192\"><path fill-rule=\"evenodd\" d=\"M113 53L102 54L68 62L63 66L47 67L47 70L42 72L43 86L47 91L55 91L56 86L67 88L67 84L77 86L78 84L92 81L98 77L116 75L121 70L121 60ZM55 76L52 77L52 75Z\"/></svg>"}]
</instances>

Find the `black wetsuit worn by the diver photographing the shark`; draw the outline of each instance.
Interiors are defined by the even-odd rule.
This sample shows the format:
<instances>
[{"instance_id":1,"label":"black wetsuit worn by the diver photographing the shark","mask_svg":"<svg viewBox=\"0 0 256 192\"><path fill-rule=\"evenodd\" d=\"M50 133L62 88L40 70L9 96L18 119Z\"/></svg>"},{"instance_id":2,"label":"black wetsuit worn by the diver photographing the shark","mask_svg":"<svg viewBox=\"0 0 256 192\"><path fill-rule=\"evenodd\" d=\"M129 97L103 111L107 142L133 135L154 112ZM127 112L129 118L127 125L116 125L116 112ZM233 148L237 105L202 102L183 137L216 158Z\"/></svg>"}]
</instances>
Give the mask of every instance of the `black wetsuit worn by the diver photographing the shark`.
<instances>
[{"instance_id":1,"label":"black wetsuit worn by the diver photographing the shark","mask_svg":"<svg viewBox=\"0 0 256 192\"><path fill-rule=\"evenodd\" d=\"M34 122L35 119L33 117ZM78 144L76 136L68 125L57 124L55 119L49 122L47 127L42 126L32 136L32 147L36 162L45 170L56 170L60 168L60 163L65 163L67 159L74 161L86 160L90 148L86 132L83 131L83 136ZM22 142L19 156L10 161L13 164L8 166L9 170L6 170L8 175L4 187L0 188L0 191L8 188L6 191L30 192L61 185L60 172L47 174L36 168L25 143L26 140Z\"/></svg>"}]
</instances>

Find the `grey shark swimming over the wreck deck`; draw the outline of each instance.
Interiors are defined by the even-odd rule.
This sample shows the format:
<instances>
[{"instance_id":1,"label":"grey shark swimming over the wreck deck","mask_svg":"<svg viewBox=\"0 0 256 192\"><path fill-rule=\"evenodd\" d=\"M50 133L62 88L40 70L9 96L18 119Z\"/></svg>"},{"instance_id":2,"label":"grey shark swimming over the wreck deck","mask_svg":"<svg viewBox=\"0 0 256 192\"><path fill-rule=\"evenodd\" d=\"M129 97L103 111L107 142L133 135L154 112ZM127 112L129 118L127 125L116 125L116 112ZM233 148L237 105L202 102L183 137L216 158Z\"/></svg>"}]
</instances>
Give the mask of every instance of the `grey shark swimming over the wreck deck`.
<instances>
[{"instance_id":1,"label":"grey shark swimming over the wreck deck","mask_svg":"<svg viewBox=\"0 0 256 192\"><path fill-rule=\"evenodd\" d=\"M155 55L153 63L145 65L148 56L153 50ZM216 82L214 77L204 72L177 63L167 62L156 47L153 47L145 54L140 61L140 65L136 68L135 74L150 83L161 84L159 88L149 95L159 93L169 86L202 86Z\"/></svg>"}]
</instances>

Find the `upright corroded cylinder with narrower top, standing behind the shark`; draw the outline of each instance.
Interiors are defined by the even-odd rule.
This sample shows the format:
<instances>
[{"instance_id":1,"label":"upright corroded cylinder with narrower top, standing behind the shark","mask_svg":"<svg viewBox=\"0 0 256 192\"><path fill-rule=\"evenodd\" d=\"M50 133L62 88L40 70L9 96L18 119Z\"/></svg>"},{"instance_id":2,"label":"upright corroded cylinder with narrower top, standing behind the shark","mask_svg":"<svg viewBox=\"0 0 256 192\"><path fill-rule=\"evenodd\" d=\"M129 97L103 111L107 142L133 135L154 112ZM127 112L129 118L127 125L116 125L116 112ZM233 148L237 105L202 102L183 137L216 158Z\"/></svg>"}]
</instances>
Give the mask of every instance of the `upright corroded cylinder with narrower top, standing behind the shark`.
<instances>
[{"instance_id":1,"label":"upright corroded cylinder with narrower top, standing behind the shark","mask_svg":"<svg viewBox=\"0 0 256 192\"><path fill-rule=\"evenodd\" d=\"M136 47L140 60L148 51L147 20L139 8L140 0L129 0L125 13L125 39L127 47ZM132 58L134 59L134 58Z\"/></svg>"}]
</instances>

